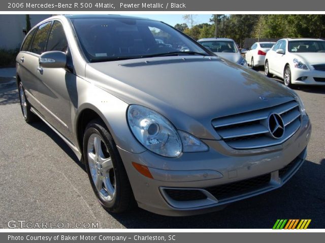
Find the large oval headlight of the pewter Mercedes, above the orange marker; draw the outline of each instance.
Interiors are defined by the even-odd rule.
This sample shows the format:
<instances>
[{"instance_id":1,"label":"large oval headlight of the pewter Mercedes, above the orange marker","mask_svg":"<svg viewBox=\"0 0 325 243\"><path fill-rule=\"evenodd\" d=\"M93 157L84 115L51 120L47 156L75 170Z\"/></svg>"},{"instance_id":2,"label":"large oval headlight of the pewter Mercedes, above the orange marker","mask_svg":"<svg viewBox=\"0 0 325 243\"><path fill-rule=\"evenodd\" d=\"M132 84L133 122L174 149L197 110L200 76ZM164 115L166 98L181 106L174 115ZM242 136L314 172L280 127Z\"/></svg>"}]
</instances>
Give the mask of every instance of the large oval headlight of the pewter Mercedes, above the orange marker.
<instances>
[{"instance_id":1,"label":"large oval headlight of the pewter Mercedes, above the orange marker","mask_svg":"<svg viewBox=\"0 0 325 243\"><path fill-rule=\"evenodd\" d=\"M150 151L166 157L181 154L181 139L174 126L162 115L144 106L131 105L127 119L134 136Z\"/></svg>"}]
</instances>

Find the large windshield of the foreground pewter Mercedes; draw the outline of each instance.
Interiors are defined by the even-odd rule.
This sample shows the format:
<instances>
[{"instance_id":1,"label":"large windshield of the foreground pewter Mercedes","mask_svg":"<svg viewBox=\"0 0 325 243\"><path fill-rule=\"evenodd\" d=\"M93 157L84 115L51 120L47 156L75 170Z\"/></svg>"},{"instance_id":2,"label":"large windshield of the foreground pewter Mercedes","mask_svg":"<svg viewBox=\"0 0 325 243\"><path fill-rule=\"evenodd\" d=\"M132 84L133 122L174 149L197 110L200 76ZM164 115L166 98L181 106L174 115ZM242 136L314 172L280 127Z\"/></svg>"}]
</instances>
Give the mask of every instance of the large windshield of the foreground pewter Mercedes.
<instances>
[{"instance_id":1,"label":"large windshield of the foreground pewter Mercedes","mask_svg":"<svg viewBox=\"0 0 325 243\"><path fill-rule=\"evenodd\" d=\"M167 24L130 18L71 19L81 48L90 62L166 54L209 55ZM184 53L184 54L182 54Z\"/></svg>"}]
</instances>

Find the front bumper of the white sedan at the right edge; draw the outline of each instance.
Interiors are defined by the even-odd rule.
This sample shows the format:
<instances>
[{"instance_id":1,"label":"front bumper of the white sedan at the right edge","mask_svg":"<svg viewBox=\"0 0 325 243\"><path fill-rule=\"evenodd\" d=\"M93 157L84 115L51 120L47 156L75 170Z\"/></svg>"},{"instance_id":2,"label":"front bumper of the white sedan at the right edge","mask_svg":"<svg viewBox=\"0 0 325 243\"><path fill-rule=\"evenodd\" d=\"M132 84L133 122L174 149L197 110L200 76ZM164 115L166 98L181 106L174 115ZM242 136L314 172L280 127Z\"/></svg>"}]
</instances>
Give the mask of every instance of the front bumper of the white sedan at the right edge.
<instances>
[{"instance_id":1,"label":"front bumper of the white sedan at the right edge","mask_svg":"<svg viewBox=\"0 0 325 243\"><path fill-rule=\"evenodd\" d=\"M307 78L301 80L301 77ZM291 83L296 85L325 85L325 71L292 68Z\"/></svg>"}]
</instances>

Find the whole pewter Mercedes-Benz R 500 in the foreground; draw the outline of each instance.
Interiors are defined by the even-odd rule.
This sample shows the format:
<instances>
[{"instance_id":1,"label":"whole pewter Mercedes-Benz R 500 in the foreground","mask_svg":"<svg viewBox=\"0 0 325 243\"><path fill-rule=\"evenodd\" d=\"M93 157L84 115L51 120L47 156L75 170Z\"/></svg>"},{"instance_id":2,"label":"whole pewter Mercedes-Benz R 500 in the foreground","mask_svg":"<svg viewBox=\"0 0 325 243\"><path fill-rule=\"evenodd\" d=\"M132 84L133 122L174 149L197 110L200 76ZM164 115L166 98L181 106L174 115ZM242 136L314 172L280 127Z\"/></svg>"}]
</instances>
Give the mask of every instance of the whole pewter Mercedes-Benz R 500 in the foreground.
<instances>
[{"instance_id":1,"label":"whole pewter Mercedes-Benz R 500 in the foreground","mask_svg":"<svg viewBox=\"0 0 325 243\"><path fill-rule=\"evenodd\" d=\"M69 144L111 212L222 209L282 186L306 157L294 91L159 21L53 16L16 62L25 120Z\"/></svg>"}]
</instances>

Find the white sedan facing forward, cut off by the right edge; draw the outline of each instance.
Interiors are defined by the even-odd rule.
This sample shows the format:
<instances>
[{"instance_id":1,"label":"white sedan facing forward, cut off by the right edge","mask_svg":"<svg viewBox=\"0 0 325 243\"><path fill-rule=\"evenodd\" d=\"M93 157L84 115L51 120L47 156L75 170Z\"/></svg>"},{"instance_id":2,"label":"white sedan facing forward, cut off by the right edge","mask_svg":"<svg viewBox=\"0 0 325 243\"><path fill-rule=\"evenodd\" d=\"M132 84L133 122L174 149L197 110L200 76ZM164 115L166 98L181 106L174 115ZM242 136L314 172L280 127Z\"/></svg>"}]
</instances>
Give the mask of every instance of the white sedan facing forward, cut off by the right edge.
<instances>
[{"instance_id":1,"label":"white sedan facing forward, cut off by the right edge","mask_svg":"<svg viewBox=\"0 0 325 243\"><path fill-rule=\"evenodd\" d=\"M325 85L325 41L280 39L265 57L265 75L283 78L284 85Z\"/></svg>"}]
</instances>

